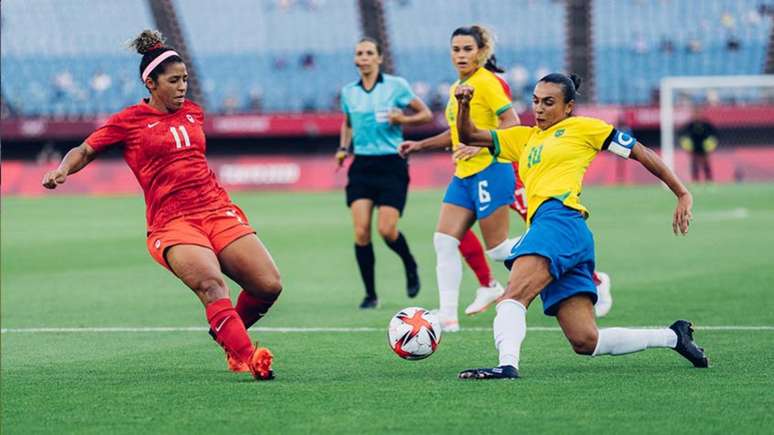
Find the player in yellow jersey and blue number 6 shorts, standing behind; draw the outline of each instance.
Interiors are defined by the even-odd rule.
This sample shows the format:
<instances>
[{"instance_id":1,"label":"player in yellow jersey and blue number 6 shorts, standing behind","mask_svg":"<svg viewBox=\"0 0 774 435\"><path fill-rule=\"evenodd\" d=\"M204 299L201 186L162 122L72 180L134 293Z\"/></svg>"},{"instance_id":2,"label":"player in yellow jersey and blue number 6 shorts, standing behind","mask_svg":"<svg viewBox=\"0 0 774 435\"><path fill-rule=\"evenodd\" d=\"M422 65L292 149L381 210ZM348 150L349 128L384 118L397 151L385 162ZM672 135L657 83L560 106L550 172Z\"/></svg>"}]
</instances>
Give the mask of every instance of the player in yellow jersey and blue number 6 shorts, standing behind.
<instances>
[{"instance_id":1,"label":"player in yellow jersey and blue number 6 shorts, standing behind","mask_svg":"<svg viewBox=\"0 0 774 435\"><path fill-rule=\"evenodd\" d=\"M449 92L446 119L449 130L418 141L401 144L406 156L413 152L452 147L468 152L465 159L456 161L456 170L441 206L441 214L433 236L435 246L440 299L439 316L445 331L459 330L457 305L462 281L462 261L458 247L460 240L479 221L487 254L503 261L513 242L508 240L508 206L513 203L515 176L508 162L496 159L485 148L473 150L461 147L457 134L457 102L454 90L460 84L475 87L471 101L475 122L486 128L507 128L518 125L519 118L511 107L500 79L494 71L502 71L493 55L494 39L481 26L460 27L452 33L451 58L459 74ZM503 288L496 282L479 289L476 300L466 311L483 311L502 295Z\"/></svg>"}]
</instances>

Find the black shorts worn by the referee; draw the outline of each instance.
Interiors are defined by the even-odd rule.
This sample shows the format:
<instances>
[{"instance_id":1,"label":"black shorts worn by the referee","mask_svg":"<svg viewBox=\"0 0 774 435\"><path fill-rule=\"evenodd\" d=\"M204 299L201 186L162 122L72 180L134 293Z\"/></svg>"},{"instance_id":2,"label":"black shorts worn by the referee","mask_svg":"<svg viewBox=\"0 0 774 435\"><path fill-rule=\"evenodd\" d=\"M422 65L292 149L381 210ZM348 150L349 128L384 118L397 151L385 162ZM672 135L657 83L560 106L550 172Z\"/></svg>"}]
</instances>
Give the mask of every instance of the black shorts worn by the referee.
<instances>
[{"instance_id":1,"label":"black shorts worn by the referee","mask_svg":"<svg viewBox=\"0 0 774 435\"><path fill-rule=\"evenodd\" d=\"M370 199L403 214L409 184L406 159L397 154L356 155L347 176L347 207L358 199Z\"/></svg>"}]
</instances>

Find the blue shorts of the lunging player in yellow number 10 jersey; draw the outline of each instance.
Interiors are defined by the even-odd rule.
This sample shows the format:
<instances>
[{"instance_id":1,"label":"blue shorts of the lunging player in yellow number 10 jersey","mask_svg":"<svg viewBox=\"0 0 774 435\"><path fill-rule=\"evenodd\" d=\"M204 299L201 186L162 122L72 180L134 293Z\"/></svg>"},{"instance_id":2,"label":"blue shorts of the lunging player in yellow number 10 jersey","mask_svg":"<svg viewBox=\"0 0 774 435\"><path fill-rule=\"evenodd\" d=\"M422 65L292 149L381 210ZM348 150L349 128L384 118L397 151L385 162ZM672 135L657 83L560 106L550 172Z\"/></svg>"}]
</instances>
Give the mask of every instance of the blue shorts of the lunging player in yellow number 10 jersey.
<instances>
[{"instance_id":1,"label":"blue shorts of the lunging player in yellow number 10 jersey","mask_svg":"<svg viewBox=\"0 0 774 435\"><path fill-rule=\"evenodd\" d=\"M554 280L540 292L547 316L555 316L563 300L578 294L587 294L592 303L597 302L594 236L579 211L555 199L541 204L505 266L510 269L523 255L540 255L550 263Z\"/></svg>"}]
</instances>

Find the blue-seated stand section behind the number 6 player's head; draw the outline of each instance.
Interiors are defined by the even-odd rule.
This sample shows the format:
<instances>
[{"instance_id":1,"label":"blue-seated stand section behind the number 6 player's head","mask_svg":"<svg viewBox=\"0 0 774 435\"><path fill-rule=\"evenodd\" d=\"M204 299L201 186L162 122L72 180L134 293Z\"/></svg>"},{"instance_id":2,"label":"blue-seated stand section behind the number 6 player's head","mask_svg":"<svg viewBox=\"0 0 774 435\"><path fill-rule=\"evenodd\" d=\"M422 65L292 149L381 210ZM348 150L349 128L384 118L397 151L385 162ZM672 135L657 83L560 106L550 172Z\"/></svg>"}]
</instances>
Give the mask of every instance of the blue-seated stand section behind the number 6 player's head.
<instances>
[{"instance_id":1,"label":"blue-seated stand section behind the number 6 player's head","mask_svg":"<svg viewBox=\"0 0 774 435\"><path fill-rule=\"evenodd\" d=\"M460 26L483 24L495 33L497 58L517 101L532 95L538 76L564 65L561 1L387 0L385 12L397 72L428 101L440 97L445 104L447 88L457 79L449 60L449 37Z\"/></svg>"}]
</instances>

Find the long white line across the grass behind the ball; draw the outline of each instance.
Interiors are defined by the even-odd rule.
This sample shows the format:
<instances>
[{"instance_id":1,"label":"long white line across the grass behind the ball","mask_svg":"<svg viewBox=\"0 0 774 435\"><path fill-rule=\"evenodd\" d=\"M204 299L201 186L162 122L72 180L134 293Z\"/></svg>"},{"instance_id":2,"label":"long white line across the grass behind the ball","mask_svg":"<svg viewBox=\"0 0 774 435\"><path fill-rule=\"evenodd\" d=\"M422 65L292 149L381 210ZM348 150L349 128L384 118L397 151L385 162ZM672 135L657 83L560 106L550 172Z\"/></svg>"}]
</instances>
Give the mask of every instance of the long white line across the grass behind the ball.
<instances>
[{"instance_id":1,"label":"long white line across the grass behind the ball","mask_svg":"<svg viewBox=\"0 0 774 435\"><path fill-rule=\"evenodd\" d=\"M636 328L658 329L663 326L636 326ZM530 332L559 332L561 329L554 326L535 326L528 328ZM774 331L774 326L695 326L701 331ZM489 332L492 328L462 328L463 332ZM59 333L157 333L157 332L206 332L206 327L201 326L159 326L159 327L85 327L85 328L2 328L2 334L59 334ZM259 327L251 328L251 332L281 332L281 333L353 333L353 332L386 332L387 328L335 328L335 327Z\"/></svg>"}]
</instances>

